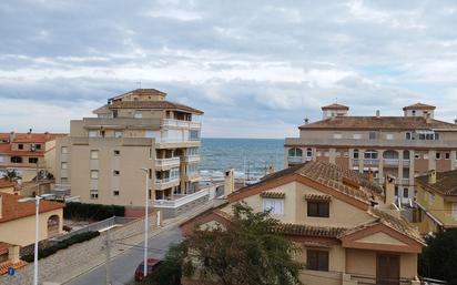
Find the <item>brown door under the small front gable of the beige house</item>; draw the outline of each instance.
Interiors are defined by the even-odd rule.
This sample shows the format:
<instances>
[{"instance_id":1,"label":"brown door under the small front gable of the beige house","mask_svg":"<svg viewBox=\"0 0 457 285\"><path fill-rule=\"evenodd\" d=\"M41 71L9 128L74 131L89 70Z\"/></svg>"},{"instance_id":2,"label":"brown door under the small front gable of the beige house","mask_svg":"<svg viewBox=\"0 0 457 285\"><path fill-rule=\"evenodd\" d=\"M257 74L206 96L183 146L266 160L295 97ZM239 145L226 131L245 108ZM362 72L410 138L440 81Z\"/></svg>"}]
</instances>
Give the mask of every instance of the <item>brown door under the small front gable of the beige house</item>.
<instances>
[{"instance_id":1,"label":"brown door under the small front gable of the beige house","mask_svg":"<svg viewBox=\"0 0 457 285\"><path fill-rule=\"evenodd\" d=\"M377 254L376 285L399 285L399 255Z\"/></svg>"}]
</instances>

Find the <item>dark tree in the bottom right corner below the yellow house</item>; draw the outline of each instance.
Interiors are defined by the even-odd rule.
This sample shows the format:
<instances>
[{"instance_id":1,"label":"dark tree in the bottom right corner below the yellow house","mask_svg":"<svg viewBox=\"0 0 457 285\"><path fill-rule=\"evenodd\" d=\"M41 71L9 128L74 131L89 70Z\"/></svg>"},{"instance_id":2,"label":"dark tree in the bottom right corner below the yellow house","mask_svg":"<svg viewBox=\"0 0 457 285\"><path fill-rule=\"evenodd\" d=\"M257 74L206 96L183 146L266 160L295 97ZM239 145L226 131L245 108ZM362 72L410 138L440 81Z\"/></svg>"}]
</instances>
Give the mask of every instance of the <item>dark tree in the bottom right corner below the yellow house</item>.
<instances>
[{"instance_id":1,"label":"dark tree in the bottom right corner below the yellow house","mask_svg":"<svg viewBox=\"0 0 457 285\"><path fill-rule=\"evenodd\" d=\"M427 237L427 247L419 256L419 275L457 284L457 228Z\"/></svg>"}]
</instances>

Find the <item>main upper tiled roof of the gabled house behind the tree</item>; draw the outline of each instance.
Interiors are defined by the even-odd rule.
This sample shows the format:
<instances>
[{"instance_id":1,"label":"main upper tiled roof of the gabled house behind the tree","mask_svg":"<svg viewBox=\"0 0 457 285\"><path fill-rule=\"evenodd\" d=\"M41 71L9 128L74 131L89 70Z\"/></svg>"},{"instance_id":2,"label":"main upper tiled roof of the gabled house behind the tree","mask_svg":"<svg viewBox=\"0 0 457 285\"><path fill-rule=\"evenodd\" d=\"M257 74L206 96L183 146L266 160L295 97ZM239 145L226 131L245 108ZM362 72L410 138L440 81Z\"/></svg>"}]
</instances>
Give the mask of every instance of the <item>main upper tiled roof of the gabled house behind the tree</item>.
<instances>
[{"instance_id":1,"label":"main upper tiled roof of the gabled house behind the tree","mask_svg":"<svg viewBox=\"0 0 457 285\"><path fill-rule=\"evenodd\" d=\"M266 175L258 183L242 187L233 192L231 195L228 195L228 197L238 195L242 192L250 191L262 184L266 184L291 174L298 174L301 176L311 179L322 185L331 187L337 192L343 193L344 195L362 201L366 204L370 203L374 195L380 196L384 193L383 187L374 182L369 182L367 175L362 174L357 171L343 169L336 164L327 162L308 161Z\"/></svg>"}]
</instances>

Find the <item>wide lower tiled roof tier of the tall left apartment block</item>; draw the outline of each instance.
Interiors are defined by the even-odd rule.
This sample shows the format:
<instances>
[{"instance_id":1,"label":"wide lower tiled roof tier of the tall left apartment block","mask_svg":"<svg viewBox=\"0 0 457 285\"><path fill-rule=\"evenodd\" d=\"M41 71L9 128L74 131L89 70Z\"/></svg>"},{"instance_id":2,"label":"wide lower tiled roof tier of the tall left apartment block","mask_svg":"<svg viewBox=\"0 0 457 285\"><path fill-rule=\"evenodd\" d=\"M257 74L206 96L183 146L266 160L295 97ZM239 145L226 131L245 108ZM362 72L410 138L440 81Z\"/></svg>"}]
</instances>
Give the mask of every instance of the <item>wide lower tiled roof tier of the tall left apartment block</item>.
<instances>
[{"instance_id":1,"label":"wide lower tiled roof tier of the tall left apartment block","mask_svg":"<svg viewBox=\"0 0 457 285\"><path fill-rule=\"evenodd\" d=\"M203 111L197 109L174 103L170 101L114 101L108 104L109 109L154 109L154 110L176 110L182 112L190 112L203 114Z\"/></svg>"}]
</instances>

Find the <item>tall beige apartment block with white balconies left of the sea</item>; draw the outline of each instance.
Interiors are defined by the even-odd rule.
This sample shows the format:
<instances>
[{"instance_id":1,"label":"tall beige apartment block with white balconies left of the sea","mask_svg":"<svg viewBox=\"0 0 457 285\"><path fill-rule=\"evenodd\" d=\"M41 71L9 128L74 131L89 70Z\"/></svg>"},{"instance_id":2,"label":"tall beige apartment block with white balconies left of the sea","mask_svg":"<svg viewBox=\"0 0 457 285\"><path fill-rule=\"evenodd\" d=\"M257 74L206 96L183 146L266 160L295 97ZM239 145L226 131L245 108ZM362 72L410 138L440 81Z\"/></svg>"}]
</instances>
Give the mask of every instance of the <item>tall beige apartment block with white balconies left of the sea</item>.
<instances>
[{"instance_id":1,"label":"tall beige apartment block with white balconies left of the sea","mask_svg":"<svg viewBox=\"0 0 457 285\"><path fill-rule=\"evenodd\" d=\"M97 118L71 121L57 142L57 183L84 203L143 206L192 193L200 180L202 111L155 89L111 98Z\"/></svg>"}]
</instances>

